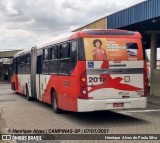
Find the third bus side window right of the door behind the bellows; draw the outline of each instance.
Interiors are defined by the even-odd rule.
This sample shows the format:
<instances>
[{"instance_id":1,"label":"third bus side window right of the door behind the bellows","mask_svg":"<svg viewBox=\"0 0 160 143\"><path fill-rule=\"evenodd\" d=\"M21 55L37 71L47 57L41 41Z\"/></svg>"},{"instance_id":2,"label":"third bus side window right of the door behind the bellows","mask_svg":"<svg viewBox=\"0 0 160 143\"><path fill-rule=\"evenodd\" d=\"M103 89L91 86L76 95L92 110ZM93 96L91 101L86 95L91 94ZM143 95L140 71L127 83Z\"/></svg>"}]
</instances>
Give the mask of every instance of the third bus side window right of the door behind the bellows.
<instances>
[{"instance_id":1,"label":"third bus side window right of the door behind the bellows","mask_svg":"<svg viewBox=\"0 0 160 143\"><path fill-rule=\"evenodd\" d=\"M70 69L70 44L64 43L60 46L59 51L59 66L58 73L59 74L69 74Z\"/></svg>"}]
</instances>

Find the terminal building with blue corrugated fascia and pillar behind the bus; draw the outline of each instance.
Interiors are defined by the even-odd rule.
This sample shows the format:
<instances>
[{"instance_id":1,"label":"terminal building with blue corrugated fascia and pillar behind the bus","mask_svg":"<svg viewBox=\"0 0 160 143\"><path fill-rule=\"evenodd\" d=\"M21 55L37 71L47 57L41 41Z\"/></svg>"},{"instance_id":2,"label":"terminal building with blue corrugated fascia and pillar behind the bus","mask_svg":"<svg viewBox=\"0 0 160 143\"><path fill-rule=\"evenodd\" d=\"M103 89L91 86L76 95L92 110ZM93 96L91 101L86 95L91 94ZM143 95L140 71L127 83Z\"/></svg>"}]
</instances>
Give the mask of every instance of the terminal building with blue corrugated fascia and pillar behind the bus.
<instances>
[{"instance_id":1,"label":"terminal building with blue corrugated fascia and pillar behind the bus","mask_svg":"<svg viewBox=\"0 0 160 143\"><path fill-rule=\"evenodd\" d=\"M80 27L82 29L124 29L139 31L145 49L151 49L150 95L160 96L160 69L156 69L157 47L160 47L160 0L146 0L122 11Z\"/></svg>"}]
</instances>

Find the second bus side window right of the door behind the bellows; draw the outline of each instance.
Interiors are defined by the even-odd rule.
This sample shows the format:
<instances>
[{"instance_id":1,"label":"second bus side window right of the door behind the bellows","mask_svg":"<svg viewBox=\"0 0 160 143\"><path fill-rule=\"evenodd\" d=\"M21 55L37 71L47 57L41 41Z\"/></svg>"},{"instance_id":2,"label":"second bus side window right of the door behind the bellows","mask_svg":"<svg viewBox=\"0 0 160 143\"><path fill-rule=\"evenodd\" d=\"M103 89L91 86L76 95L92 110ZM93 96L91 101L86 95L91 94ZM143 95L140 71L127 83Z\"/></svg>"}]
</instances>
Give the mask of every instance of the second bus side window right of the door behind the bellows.
<instances>
[{"instance_id":1,"label":"second bus side window right of the door behind the bellows","mask_svg":"<svg viewBox=\"0 0 160 143\"><path fill-rule=\"evenodd\" d=\"M50 73L57 74L58 72L58 46L52 46L50 48Z\"/></svg>"}]
</instances>

